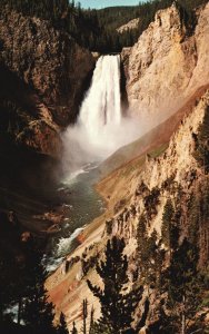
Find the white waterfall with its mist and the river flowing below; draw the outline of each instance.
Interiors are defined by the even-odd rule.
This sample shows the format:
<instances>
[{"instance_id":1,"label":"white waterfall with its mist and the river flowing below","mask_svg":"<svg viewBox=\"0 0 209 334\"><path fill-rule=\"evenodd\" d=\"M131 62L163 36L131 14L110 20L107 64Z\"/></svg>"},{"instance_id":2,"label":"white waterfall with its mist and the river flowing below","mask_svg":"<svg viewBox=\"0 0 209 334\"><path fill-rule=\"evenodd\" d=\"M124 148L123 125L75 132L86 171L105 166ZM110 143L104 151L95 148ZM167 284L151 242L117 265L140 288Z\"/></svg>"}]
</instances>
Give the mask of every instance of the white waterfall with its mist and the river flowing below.
<instances>
[{"instance_id":1,"label":"white waterfall with its mist and the river flowing below","mask_svg":"<svg viewBox=\"0 0 209 334\"><path fill-rule=\"evenodd\" d=\"M139 129L136 118L132 120L122 117L120 56L100 57L78 121L62 137L66 169L62 186L63 189L67 187L72 191L70 224L67 226L70 235L66 236L64 232L59 243L56 242L56 259L52 256L48 264L49 269L57 267L62 256L69 254L80 228L102 210L102 202L92 190L92 184L98 177L97 170L91 173L90 169L119 147L137 139Z\"/></svg>"}]
</instances>

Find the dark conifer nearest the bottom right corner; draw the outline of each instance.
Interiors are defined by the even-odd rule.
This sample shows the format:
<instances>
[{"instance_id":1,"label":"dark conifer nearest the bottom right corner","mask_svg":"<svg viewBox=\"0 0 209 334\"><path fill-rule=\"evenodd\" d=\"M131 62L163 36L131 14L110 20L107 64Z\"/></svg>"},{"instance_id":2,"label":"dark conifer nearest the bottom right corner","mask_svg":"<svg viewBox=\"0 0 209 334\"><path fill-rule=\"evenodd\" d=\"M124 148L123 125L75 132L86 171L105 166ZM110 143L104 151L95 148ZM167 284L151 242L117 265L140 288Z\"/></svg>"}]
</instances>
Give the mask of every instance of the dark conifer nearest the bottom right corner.
<instances>
[{"instance_id":1,"label":"dark conifer nearest the bottom right corner","mask_svg":"<svg viewBox=\"0 0 209 334\"><path fill-rule=\"evenodd\" d=\"M198 272L198 249L187 239L173 252L167 272L166 291L169 322L167 333L190 333L190 325L201 305L202 282ZM195 321L197 326L198 320ZM195 325L192 324L195 327Z\"/></svg>"}]
</instances>

